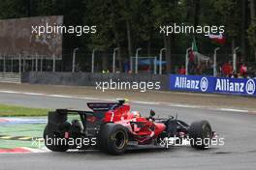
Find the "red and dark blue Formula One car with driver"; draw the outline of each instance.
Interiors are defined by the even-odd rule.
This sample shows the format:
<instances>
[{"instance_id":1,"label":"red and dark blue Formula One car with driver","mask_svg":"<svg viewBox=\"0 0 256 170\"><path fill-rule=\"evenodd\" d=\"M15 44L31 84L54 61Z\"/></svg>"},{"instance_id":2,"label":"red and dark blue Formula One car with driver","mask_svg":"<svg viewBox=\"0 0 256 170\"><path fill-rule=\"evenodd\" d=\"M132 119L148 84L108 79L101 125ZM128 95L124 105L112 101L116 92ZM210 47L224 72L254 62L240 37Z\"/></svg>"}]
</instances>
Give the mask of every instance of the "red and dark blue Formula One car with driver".
<instances>
[{"instance_id":1,"label":"red and dark blue Formula One car with driver","mask_svg":"<svg viewBox=\"0 0 256 170\"><path fill-rule=\"evenodd\" d=\"M124 99L118 102L87 103L92 111L57 109L48 113L44 131L45 144L54 152L68 149L99 149L112 155L121 155L127 148L181 145L184 141L197 149L207 149L214 132L208 121L186 123L174 117L155 118L131 111ZM79 115L80 119L76 119ZM71 115L73 120L68 119Z\"/></svg>"}]
</instances>

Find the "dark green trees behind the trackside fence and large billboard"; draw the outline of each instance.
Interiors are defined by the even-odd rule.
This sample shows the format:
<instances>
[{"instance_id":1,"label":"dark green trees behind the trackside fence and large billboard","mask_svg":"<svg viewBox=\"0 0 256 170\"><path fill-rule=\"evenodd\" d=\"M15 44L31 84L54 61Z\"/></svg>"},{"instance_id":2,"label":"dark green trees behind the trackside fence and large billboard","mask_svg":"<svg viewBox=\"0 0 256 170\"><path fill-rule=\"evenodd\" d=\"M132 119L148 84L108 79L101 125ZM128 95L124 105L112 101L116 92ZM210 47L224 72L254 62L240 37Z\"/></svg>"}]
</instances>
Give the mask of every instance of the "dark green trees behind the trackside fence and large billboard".
<instances>
[{"instance_id":1,"label":"dark green trees behind the trackside fence and large billboard","mask_svg":"<svg viewBox=\"0 0 256 170\"><path fill-rule=\"evenodd\" d=\"M63 48L80 46L103 51L104 67L112 48L118 47L118 66L143 47L144 55L155 55L166 47L167 72L174 71L177 53L184 53L196 38L203 53L213 51L203 35L163 36L160 25L224 25L227 43L223 53L241 47L247 61L256 60L256 18L254 0L2 0L0 18L64 15L66 25L97 25L97 34L67 35Z\"/></svg>"}]
</instances>

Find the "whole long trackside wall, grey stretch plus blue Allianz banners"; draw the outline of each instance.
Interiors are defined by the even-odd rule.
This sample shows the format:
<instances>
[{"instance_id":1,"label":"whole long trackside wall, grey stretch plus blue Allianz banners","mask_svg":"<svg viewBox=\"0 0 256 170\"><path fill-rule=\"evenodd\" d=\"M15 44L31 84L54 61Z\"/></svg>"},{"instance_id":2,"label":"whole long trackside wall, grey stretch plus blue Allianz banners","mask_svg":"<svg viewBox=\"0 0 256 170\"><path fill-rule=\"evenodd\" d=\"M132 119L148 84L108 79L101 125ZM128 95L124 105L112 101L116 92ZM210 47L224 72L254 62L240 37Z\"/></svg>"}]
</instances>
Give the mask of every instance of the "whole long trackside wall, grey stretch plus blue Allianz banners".
<instances>
[{"instance_id":1,"label":"whole long trackside wall, grey stretch plus blue Allianz banners","mask_svg":"<svg viewBox=\"0 0 256 170\"><path fill-rule=\"evenodd\" d=\"M218 93L256 97L256 79L224 78L199 75L157 75L90 72L23 72L22 83L69 86L95 86L99 81L161 82L160 90Z\"/></svg>"}]
</instances>

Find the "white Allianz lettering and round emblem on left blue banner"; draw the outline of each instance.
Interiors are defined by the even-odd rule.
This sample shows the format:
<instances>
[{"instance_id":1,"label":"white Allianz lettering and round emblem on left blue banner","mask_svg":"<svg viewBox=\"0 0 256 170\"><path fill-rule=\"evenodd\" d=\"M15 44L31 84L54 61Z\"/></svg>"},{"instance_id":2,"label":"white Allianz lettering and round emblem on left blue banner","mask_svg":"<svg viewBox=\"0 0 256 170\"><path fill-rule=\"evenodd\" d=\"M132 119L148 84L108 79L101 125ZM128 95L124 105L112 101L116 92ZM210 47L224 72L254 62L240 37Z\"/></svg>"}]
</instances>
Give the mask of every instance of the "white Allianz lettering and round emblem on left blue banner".
<instances>
[{"instance_id":1,"label":"white Allianz lettering and round emblem on left blue banner","mask_svg":"<svg viewBox=\"0 0 256 170\"><path fill-rule=\"evenodd\" d=\"M208 78L202 77L201 80L197 79L188 79L187 77L176 76L176 88L180 89L192 89L192 90L201 90L206 92L208 90Z\"/></svg>"}]
</instances>

